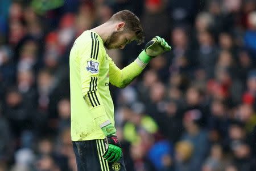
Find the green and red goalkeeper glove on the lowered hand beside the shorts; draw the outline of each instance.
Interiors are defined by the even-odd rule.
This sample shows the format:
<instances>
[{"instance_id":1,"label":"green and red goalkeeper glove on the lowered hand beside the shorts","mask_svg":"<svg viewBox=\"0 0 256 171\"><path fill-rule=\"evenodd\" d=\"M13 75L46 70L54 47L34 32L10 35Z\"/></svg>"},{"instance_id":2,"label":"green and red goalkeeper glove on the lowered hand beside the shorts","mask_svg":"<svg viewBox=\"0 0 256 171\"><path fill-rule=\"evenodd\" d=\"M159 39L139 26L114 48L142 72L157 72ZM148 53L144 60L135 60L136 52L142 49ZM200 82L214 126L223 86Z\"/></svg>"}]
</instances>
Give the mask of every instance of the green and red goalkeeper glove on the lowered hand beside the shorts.
<instances>
[{"instance_id":1,"label":"green and red goalkeeper glove on the lowered hand beside the shorts","mask_svg":"<svg viewBox=\"0 0 256 171\"><path fill-rule=\"evenodd\" d=\"M122 156L121 144L118 142L117 136L115 136L116 130L112 123L102 127L101 130L104 132L108 140L108 149L106 149L103 157L109 163L114 163Z\"/></svg>"}]
</instances>

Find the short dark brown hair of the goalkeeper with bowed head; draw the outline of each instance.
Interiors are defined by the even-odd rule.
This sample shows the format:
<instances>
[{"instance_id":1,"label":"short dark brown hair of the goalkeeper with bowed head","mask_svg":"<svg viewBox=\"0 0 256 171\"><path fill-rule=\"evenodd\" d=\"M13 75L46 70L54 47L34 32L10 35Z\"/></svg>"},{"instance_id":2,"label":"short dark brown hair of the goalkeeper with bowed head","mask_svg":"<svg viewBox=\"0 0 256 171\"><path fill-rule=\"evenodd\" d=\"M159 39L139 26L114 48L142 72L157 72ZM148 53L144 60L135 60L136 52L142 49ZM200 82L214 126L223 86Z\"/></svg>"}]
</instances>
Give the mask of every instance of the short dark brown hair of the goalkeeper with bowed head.
<instances>
[{"instance_id":1,"label":"short dark brown hair of the goalkeeper with bowed head","mask_svg":"<svg viewBox=\"0 0 256 171\"><path fill-rule=\"evenodd\" d=\"M138 44L144 42L144 33L141 25L141 21L138 16L129 10L122 10L115 13L112 18L109 19L110 22L124 22L126 28L130 31L135 32L136 41Z\"/></svg>"}]
</instances>

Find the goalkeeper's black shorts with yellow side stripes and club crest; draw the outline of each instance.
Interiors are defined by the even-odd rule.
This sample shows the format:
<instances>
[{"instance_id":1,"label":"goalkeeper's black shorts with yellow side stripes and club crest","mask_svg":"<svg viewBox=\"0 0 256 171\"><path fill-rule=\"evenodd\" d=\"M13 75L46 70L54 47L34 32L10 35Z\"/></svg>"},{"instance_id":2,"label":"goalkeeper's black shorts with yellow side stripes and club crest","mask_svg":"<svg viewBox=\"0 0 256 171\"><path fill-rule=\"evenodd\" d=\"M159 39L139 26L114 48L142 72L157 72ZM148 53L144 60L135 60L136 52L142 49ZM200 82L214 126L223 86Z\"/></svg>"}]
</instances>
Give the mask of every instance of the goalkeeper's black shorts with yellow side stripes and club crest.
<instances>
[{"instance_id":1,"label":"goalkeeper's black shorts with yellow side stripes and club crest","mask_svg":"<svg viewBox=\"0 0 256 171\"><path fill-rule=\"evenodd\" d=\"M103 139L73 142L77 171L126 171L123 155L115 163L108 163L102 155L106 151Z\"/></svg>"}]
</instances>

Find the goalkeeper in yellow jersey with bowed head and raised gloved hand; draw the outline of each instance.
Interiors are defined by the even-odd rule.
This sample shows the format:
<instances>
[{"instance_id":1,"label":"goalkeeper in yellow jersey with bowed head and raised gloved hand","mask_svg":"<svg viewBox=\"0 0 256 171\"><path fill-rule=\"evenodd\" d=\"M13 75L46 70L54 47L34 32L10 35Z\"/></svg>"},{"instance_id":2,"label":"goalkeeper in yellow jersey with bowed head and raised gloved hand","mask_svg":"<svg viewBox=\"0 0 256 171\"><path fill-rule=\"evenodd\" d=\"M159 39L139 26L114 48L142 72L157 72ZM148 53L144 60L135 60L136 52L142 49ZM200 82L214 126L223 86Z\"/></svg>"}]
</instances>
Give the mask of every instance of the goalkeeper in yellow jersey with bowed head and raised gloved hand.
<instances>
[{"instance_id":1,"label":"goalkeeper in yellow jersey with bowed head and raised gloved hand","mask_svg":"<svg viewBox=\"0 0 256 171\"><path fill-rule=\"evenodd\" d=\"M69 57L71 88L71 138L78 171L126 170L121 145L115 135L114 106L109 83L126 87L141 74L150 59L171 49L156 36L138 58L122 70L106 54L136 40L143 42L139 18L119 11L108 22L83 32Z\"/></svg>"}]
</instances>

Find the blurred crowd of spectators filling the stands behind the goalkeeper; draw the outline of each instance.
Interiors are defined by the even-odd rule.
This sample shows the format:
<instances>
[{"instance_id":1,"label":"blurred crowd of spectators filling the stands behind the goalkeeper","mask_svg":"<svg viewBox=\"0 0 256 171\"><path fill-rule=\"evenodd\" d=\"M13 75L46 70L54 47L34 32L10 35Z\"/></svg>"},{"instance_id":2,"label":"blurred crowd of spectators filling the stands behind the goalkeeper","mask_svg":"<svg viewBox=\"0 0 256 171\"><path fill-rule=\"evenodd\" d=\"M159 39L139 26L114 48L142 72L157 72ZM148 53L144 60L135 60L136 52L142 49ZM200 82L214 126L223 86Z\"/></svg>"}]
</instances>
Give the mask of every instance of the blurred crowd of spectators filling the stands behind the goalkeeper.
<instances>
[{"instance_id":1,"label":"blurred crowd of spectators filling the stands behind the goalkeeper","mask_svg":"<svg viewBox=\"0 0 256 171\"><path fill-rule=\"evenodd\" d=\"M256 170L254 0L0 2L0 170L75 171L69 51L119 10L172 50L111 87L129 171ZM121 69L144 44L108 50Z\"/></svg>"}]
</instances>

